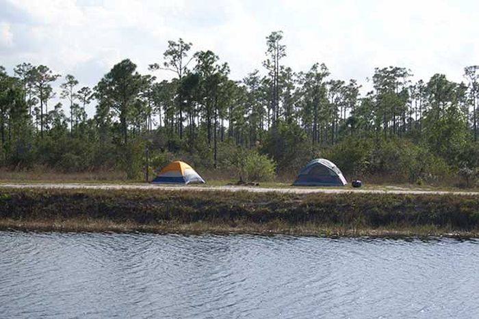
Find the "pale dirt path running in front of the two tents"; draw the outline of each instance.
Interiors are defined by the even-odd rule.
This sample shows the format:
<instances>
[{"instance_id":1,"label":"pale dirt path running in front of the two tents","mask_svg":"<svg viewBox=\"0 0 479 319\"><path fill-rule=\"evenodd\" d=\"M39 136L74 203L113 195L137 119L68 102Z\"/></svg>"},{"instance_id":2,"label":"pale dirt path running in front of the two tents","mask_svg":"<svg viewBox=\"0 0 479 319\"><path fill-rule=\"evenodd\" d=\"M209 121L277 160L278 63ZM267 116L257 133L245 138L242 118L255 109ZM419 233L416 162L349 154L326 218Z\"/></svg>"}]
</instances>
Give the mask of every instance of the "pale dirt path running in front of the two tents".
<instances>
[{"instance_id":1,"label":"pale dirt path running in front of the two tents","mask_svg":"<svg viewBox=\"0 0 479 319\"><path fill-rule=\"evenodd\" d=\"M327 188L266 188L255 186L166 186L153 184L0 184L0 187L10 189L144 189L149 191L250 191L254 193L294 193L294 194L310 194L310 193L326 193L326 194L342 194L342 193L364 193L364 194L411 194L411 195L469 195L479 196L479 192L468 191L424 191L409 189L327 189Z\"/></svg>"}]
</instances>

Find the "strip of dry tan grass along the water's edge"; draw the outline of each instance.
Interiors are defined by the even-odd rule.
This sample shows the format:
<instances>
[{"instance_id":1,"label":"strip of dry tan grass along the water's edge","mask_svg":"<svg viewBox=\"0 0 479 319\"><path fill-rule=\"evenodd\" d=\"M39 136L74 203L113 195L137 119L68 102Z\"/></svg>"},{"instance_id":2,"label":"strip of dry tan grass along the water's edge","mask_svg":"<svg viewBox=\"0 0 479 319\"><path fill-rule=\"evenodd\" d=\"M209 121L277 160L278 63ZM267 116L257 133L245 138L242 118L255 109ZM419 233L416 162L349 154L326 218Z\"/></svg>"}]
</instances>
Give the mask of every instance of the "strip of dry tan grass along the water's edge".
<instances>
[{"instance_id":1,"label":"strip of dry tan grass along the water's edge","mask_svg":"<svg viewBox=\"0 0 479 319\"><path fill-rule=\"evenodd\" d=\"M289 234L297 236L321 237L450 237L474 238L479 230L457 232L448 227L341 227L306 223L305 225L287 225L281 221L270 223L156 223L140 224L132 221L118 222L92 219L55 219L48 221L0 219L3 230L38 230L44 232L152 232L160 234Z\"/></svg>"}]
</instances>

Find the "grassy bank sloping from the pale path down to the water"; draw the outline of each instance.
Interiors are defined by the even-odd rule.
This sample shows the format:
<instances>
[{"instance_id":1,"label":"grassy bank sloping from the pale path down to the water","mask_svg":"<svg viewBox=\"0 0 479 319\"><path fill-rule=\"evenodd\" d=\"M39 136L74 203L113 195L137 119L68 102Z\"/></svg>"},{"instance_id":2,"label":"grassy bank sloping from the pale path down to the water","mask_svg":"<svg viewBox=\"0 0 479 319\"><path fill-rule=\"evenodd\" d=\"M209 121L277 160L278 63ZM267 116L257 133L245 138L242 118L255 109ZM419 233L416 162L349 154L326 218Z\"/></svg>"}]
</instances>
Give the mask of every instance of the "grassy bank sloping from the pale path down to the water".
<instances>
[{"instance_id":1,"label":"grassy bank sloping from the pale path down to the water","mask_svg":"<svg viewBox=\"0 0 479 319\"><path fill-rule=\"evenodd\" d=\"M320 236L479 236L479 197L0 189L0 227Z\"/></svg>"}]
</instances>

